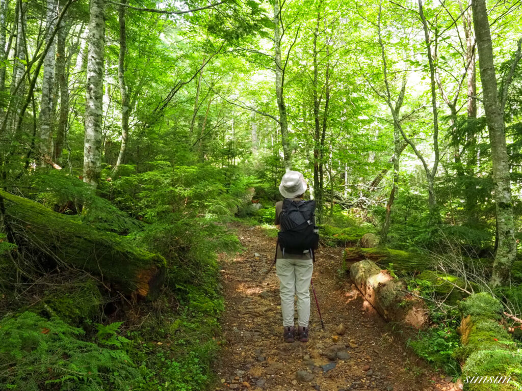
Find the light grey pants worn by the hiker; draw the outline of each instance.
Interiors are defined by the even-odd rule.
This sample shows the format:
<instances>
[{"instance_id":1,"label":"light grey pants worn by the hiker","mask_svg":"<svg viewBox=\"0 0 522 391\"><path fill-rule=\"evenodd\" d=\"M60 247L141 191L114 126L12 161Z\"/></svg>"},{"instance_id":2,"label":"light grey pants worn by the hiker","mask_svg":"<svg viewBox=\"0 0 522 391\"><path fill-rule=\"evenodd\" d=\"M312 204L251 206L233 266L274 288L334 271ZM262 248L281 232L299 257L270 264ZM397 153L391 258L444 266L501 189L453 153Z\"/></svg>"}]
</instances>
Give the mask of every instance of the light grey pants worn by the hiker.
<instances>
[{"instance_id":1,"label":"light grey pants worn by the hiker","mask_svg":"<svg viewBox=\"0 0 522 391\"><path fill-rule=\"evenodd\" d=\"M307 327L310 319L310 280L312 259L281 258L276 262L283 326L293 326L294 296L297 296L297 315L300 326Z\"/></svg>"}]
</instances>

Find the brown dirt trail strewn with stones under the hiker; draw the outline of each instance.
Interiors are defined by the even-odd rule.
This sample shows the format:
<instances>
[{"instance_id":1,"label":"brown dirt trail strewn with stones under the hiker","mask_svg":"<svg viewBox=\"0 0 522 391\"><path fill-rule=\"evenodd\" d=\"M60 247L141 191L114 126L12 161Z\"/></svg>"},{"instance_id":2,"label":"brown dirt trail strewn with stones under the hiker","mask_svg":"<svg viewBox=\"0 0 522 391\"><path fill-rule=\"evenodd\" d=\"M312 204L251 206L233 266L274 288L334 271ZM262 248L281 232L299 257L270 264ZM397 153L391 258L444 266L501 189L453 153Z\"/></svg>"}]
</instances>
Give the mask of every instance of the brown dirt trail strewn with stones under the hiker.
<instances>
[{"instance_id":1,"label":"brown dirt trail strewn with stones under the hiker","mask_svg":"<svg viewBox=\"0 0 522 391\"><path fill-rule=\"evenodd\" d=\"M310 341L285 343L279 280L272 267L275 239L260 227L235 228L246 250L222 263L227 345L216 364L221 384L215 389L452 390L450 378L426 368L394 340L349 277L339 272L341 248L316 252L313 280L325 330L312 299ZM341 323L345 333L338 335ZM299 380L298 371L305 371Z\"/></svg>"}]
</instances>

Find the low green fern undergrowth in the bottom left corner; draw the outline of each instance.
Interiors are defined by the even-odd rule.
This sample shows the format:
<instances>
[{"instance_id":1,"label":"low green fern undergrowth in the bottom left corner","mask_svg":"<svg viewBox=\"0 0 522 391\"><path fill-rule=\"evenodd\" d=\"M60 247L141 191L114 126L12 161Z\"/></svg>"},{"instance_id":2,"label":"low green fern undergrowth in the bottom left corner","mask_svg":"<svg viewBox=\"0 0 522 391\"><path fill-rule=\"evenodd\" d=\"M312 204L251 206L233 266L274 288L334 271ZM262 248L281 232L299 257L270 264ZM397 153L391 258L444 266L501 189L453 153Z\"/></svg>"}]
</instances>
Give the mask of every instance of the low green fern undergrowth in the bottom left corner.
<instances>
[{"instance_id":1,"label":"low green fern undergrowth in the bottom left corner","mask_svg":"<svg viewBox=\"0 0 522 391\"><path fill-rule=\"evenodd\" d=\"M3 319L0 384L20 391L128 390L140 374L127 353L82 340L84 334L57 317L28 311Z\"/></svg>"}]
</instances>

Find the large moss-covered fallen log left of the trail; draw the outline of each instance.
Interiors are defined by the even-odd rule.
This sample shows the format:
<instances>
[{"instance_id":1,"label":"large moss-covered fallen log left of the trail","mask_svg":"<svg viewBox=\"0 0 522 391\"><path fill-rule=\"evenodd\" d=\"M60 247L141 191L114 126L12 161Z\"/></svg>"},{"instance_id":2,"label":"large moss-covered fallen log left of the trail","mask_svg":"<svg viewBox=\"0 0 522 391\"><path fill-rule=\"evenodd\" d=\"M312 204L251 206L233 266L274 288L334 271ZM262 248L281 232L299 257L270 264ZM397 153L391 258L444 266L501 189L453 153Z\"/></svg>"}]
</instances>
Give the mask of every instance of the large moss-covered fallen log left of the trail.
<instances>
[{"instance_id":1,"label":"large moss-covered fallen log left of the trail","mask_svg":"<svg viewBox=\"0 0 522 391\"><path fill-rule=\"evenodd\" d=\"M127 237L97 231L45 206L0 190L5 226L17 245L59 264L99 276L124 294L153 298L165 278L165 259Z\"/></svg>"}]
</instances>

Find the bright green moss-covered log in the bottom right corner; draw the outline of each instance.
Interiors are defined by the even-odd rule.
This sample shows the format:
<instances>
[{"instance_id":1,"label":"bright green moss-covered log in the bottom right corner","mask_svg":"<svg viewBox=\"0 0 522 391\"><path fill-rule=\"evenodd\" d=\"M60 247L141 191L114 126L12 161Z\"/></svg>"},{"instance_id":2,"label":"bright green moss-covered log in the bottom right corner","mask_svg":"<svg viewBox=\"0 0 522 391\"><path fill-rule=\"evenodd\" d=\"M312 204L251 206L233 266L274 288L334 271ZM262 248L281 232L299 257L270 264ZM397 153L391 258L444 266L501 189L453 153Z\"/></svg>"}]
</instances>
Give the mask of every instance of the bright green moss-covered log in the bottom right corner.
<instances>
[{"instance_id":1,"label":"bright green moss-covered log in the bottom right corner","mask_svg":"<svg viewBox=\"0 0 522 391\"><path fill-rule=\"evenodd\" d=\"M464 389L518 389L513 381L520 382L522 355L500 323L502 304L487 292L480 292L460 302L459 310L462 316L458 329L461 346L455 355L462 365Z\"/></svg>"}]
</instances>

